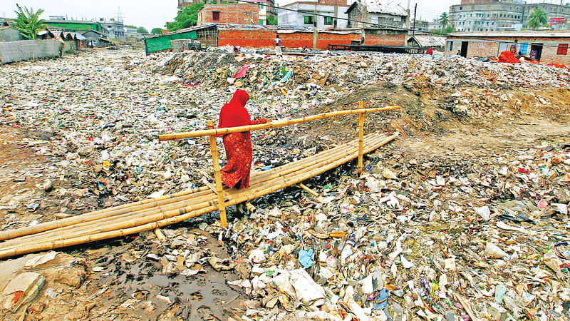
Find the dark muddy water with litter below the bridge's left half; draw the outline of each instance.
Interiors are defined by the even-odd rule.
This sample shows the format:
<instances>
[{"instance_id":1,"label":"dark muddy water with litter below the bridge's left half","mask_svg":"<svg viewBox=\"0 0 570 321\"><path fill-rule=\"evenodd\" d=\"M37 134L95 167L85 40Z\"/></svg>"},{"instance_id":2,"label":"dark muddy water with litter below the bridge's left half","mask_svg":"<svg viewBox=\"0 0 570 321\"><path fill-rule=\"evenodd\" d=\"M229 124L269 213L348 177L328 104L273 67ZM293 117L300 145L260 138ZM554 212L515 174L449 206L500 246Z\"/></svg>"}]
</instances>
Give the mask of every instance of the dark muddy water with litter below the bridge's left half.
<instances>
[{"instance_id":1,"label":"dark muddy water with litter below the bridge's left half","mask_svg":"<svg viewBox=\"0 0 570 321\"><path fill-rule=\"evenodd\" d=\"M210 253L219 258L228 257L208 233L197 229L188 230L187 233L206 236L206 248ZM227 320L228 317L239 317L241 313L234 309L247 297L227 285L227 281L238 279L234 272L217 272L204 263L202 267L205 273L188 277L178 273L162 275L160 262L146 257L146 253L160 253L162 246L139 236L128 245L100 253L100 258L93 264L106 265L109 272L98 273L100 276L95 275L93 281L100 288L109 287L103 296L105 309L111 308L125 317L140 317L142 320ZM128 250L143 250L145 255L133 263L127 263L121 256ZM164 297L168 297L170 303ZM139 301L129 307L120 307L130 299ZM237 314L234 315L234 312Z\"/></svg>"}]
</instances>

